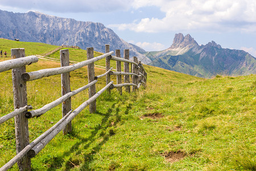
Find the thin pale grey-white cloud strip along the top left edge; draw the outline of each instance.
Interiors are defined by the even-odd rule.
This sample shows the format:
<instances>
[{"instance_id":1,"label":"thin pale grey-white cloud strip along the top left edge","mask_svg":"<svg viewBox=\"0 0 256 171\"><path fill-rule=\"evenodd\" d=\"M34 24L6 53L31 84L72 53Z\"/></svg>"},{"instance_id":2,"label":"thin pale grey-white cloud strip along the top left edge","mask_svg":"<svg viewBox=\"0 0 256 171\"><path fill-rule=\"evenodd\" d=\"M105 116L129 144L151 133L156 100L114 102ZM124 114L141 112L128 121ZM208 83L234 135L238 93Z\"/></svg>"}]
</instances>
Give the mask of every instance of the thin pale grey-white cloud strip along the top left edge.
<instances>
[{"instance_id":1,"label":"thin pale grey-white cloud strip along the top left edge","mask_svg":"<svg viewBox=\"0 0 256 171\"><path fill-rule=\"evenodd\" d=\"M128 10L133 0L1 0L2 7L13 7L26 10L51 11L54 13L88 13Z\"/></svg>"}]
</instances>

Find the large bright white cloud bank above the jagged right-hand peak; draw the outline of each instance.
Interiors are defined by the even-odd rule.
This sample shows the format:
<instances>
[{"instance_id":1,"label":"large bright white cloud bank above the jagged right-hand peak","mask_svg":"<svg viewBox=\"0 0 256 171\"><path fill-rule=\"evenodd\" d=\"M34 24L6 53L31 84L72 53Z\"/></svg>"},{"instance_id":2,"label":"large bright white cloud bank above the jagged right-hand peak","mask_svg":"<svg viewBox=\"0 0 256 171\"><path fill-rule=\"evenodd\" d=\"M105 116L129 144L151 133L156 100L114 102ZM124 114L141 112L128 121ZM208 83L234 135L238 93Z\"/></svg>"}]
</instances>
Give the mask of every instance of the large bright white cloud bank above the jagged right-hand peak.
<instances>
[{"instance_id":1,"label":"large bright white cloud bank above the jagged right-hand peak","mask_svg":"<svg viewBox=\"0 0 256 171\"><path fill-rule=\"evenodd\" d=\"M143 18L132 23L111 25L136 32L218 30L256 32L255 0L138 0L132 7L157 6L164 18Z\"/></svg>"}]
</instances>

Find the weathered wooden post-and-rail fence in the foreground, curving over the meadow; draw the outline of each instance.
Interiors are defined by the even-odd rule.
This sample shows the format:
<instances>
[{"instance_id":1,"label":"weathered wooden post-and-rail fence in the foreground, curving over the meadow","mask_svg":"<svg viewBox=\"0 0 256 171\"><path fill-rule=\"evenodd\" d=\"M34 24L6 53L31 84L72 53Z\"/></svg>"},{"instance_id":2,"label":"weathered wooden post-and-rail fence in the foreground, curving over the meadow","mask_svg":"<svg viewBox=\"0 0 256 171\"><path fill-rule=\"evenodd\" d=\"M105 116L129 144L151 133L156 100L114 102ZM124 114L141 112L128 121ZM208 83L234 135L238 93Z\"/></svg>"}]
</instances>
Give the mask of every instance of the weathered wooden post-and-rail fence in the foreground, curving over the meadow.
<instances>
[{"instance_id":1,"label":"weathered wooden post-and-rail fence in the foreground, curving over the meadow","mask_svg":"<svg viewBox=\"0 0 256 171\"><path fill-rule=\"evenodd\" d=\"M111 89L117 88L120 94L122 94L122 87L125 87L126 91L130 92L130 86L132 86L132 91L136 91L140 88L141 84L146 85L147 72L145 71L143 64L138 62L135 56L133 56L133 60L129 60L129 50L124 50L124 58L121 58L120 50L116 50L116 56L112 56L112 54L113 51L109 52L108 44L105 45L105 54L97 57L94 57L94 48L87 48L87 60L70 66L68 49L60 50L61 67L26 72L26 65L38 62L37 56L25 57L24 48L11 49L12 59L0 62L0 72L13 69L14 111L1 117L0 124L15 117L17 156L3 165L2 168L0 168L1 171L11 168L16 162L19 170L31 170L30 158L36 156L36 154L38 154L40 150L42 150L60 131L63 130L64 135L70 133L72 131L72 119L87 107L87 105L89 105L90 112L96 112L96 99L104 91L110 93ZM104 58L105 73L95 76L94 62ZM112 71L110 60L116 60L116 72ZM121 62L124 62L124 72L121 71ZM131 71L129 71L129 64L131 64ZM70 72L84 66L88 67L88 84L71 92ZM32 109L32 106L27 105L26 82L59 74L61 74L62 97L44 105L42 108L28 111L29 109ZM116 75L117 84L113 84L111 75ZM124 83L121 81L122 75L124 75ZM106 86L96 92L95 86L97 79L104 76L106 78ZM132 83L129 82L129 76L132 76ZM87 88L89 99L72 111L71 96L74 96ZM62 119L30 143L28 119L41 116L60 103L62 103Z\"/></svg>"}]
</instances>

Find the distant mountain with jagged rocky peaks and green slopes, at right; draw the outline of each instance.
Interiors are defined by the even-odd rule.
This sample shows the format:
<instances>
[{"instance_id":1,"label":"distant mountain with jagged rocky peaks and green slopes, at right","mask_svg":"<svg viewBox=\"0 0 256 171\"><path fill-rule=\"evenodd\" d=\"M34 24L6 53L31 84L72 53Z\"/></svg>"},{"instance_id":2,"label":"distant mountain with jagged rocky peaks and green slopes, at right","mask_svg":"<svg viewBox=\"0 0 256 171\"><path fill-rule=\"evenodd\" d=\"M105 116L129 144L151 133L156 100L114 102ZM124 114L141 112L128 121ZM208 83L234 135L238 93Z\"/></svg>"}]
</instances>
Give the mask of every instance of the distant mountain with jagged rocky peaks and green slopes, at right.
<instances>
[{"instance_id":1,"label":"distant mountain with jagged rocky peaks and green slopes, at right","mask_svg":"<svg viewBox=\"0 0 256 171\"><path fill-rule=\"evenodd\" d=\"M176 34L166 50L144 54L152 60L151 66L202 78L256 74L256 59L249 53L222 48L214 41L200 46L189 34Z\"/></svg>"}]
</instances>

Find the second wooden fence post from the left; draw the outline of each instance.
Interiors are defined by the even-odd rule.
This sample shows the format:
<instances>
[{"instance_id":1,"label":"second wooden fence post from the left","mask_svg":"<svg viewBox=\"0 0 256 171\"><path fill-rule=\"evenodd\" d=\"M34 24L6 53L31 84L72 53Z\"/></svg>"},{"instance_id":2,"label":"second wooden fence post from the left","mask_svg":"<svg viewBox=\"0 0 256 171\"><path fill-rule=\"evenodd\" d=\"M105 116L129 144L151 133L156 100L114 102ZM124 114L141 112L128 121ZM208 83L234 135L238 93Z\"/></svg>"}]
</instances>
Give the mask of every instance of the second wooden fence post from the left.
<instances>
[{"instance_id":1,"label":"second wooden fence post from the left","mask_svg":"<svg viewBox=\"0 0 256 171\"><path fill-rule=\"evenodd\" d=\"M66 67L70 66L70 53L68 49L60 50L60 66ZM62 79L62 96L66 95L71 91L70 89L70 72L61 74ZM62 117L67 115L68 112L71 111L71 97L62 103ZM67 133L72 132L72 121L67 124L67 126L63 129L63 135L67 135Z\"/></svg>"}]
</instances>

